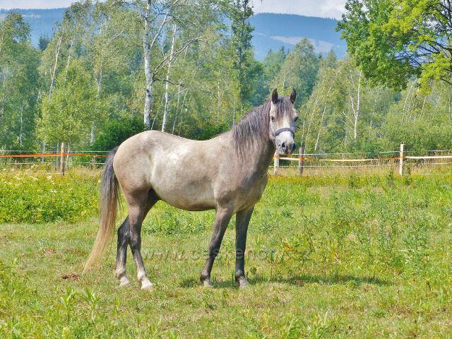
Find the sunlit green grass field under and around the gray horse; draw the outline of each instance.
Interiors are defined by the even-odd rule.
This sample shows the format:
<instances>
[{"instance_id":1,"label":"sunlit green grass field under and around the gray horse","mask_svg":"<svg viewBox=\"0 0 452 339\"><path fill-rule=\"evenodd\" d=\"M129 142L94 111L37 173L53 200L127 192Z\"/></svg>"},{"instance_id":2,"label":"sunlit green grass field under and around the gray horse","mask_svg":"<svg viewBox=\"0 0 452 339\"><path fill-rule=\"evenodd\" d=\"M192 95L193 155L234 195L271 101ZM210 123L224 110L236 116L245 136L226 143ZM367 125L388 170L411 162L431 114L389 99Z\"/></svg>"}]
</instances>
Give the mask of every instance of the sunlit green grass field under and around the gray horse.
<instances>
[{"instance_id":1,"label":"sunlit green grass field under and around the gray horse","mask_svg":"<svg viewBox=\"0 0 452 339\"><path fill-rule=\"evenodd\" d=\"M5 186L10 174L2 175ZM30 220L49 220L52 208L60 216L0 225L0 337L451 337L450 171L272 177L251 219L251 285L243 290L234 283L234 220L213 268L215 287L206 289L198 276L213 212L157 203L143 226L153 293L136 279L119 287L114 242L99 267L81 273L97 231L98 173L43 174L31 184L14 175L28 190L41 190L35 205L20 202L41 209L24 210ZM54 192L46 196L49 185ZM83 208L78 189L91 196ZM20 189L5 192L4 201L20 196ZM54 207L46 210L46 201ZM66 204L73 213L67 218ZM0 216L14 209L20 220L16 205L3 203ZM134 278L130 252L128 263Z\"/></svg>"}]
</instances>

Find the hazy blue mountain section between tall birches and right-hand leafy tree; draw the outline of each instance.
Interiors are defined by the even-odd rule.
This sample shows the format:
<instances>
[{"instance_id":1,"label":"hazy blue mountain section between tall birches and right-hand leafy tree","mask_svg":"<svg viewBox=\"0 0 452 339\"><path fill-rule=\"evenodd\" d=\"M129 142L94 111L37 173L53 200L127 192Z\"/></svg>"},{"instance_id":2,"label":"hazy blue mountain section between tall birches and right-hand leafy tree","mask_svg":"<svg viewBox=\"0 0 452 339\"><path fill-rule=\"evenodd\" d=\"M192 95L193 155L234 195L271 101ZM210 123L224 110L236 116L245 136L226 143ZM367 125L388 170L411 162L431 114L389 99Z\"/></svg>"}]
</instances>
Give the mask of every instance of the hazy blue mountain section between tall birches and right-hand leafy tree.
<instances>
[{"instance_id":1,"label":"hazy blue mountain section between tall birches and right-hand leafy tree","mask_svg":"<svg viewBox=\"0 0 452 339\"><path fill-rule=\"evenodd\" d=\"M316 47L316 52L327 54L331 49L342 58L347 50L340 33L335 31L338 20L297 16L295 14L259 13L251 17L254 25L254 54L263 59L269 49L284 46L292 49L302 38L307 37Z\"/></svg>"}]
</instances>

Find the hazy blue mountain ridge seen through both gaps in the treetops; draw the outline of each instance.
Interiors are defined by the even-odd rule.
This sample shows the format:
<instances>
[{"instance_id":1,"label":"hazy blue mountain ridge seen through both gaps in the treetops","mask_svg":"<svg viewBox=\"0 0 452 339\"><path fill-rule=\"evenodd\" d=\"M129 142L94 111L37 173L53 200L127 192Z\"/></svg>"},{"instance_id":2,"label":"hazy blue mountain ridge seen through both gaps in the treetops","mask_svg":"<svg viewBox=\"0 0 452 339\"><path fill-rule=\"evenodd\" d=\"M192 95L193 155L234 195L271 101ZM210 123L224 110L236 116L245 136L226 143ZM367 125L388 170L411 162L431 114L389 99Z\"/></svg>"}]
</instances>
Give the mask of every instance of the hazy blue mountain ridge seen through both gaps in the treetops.
<instances>
[{"instance_id":1,"label":"hazy blue mountain ridge seen through both gaps in the treetops","mask_svg":"<svg viewBox=\"0 0 452 339\"><path fill-rule=\"evenodd\" d=\"M25 21L30 23L32 44L37 46L41 35L52 36L54 25L61 21L65 9L1 9L0 20L8 11L22 14ZM338 24L338 20L335 19L259 13L251 17L250 21L255 28L254 54L259 60L266 56L269 49L280 49L282 46L292 49L303 37L311 40L316 47L316 52L323 54L333 49L338 57L343 57L347 49L345 41L340 40L340 33L335 31Z\"/></svg>"}]
</instances>

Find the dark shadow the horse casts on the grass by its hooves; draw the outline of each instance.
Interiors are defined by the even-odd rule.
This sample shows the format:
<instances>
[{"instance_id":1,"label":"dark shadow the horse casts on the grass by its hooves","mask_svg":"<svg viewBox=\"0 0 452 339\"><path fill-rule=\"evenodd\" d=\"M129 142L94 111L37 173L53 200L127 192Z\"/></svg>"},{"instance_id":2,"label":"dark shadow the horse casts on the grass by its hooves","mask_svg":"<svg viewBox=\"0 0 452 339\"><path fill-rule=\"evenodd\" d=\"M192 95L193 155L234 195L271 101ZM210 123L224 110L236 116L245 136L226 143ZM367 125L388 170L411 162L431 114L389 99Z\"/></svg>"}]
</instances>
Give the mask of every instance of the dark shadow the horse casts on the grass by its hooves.
<instances>
[{"instance_id":1,"label":"dark shadow the horse casts on the grass by its hooves","mask_svg":"<svg viewBox=\"0 0 452 339\"><path fill-rule=\"evenodd\" d=\"M303 285L309 285L318 283L321 285L345 285L353 284L355 287L362 285L379 285L387 286L391 285L386 280L381 280L376 277L370 276L355 276L355 275L296 275L290 278L281 277L266 277L263 275L253 275L252 278L248 278L250 285L262 285L268 283L280 283L287 285L297 285L302 287ZM201 283L194 278L184 279L179 284L179 287L198 287ZM213 280L214 288L230 288L237 287L237 284L233 280Z\"/></svg>"}]
</instances>

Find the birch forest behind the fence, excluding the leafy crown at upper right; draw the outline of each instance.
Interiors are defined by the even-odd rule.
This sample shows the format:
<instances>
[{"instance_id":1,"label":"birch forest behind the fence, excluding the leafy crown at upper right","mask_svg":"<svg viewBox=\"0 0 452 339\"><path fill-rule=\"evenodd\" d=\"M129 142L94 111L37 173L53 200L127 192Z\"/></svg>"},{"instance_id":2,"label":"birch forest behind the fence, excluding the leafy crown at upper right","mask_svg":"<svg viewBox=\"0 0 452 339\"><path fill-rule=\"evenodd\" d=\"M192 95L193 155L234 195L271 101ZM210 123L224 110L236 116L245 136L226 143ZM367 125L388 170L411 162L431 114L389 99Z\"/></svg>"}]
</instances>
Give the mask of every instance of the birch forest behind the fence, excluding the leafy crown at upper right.
<instances>
[{"instance_id":1,"label":"birch forest behind the fence, excluding the leafy crown at upper right","mask_svg":"<svg viewBox=\"0 0 452 339\"><path fill-rule=\"evenodd\" d=\"M359 2L338 25L342 59L304 39L258 61L250 0L78 1L38 47L11 11L0 22L0 149L109 150L146 129L212 138L273 88L297 90L307 153L452 148L451 84L434 73L444 60L366 64L362 51L375 49L357 44Z\"/></svg>"}]
</instances>

